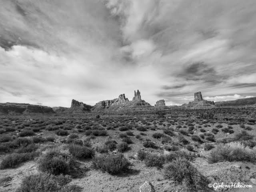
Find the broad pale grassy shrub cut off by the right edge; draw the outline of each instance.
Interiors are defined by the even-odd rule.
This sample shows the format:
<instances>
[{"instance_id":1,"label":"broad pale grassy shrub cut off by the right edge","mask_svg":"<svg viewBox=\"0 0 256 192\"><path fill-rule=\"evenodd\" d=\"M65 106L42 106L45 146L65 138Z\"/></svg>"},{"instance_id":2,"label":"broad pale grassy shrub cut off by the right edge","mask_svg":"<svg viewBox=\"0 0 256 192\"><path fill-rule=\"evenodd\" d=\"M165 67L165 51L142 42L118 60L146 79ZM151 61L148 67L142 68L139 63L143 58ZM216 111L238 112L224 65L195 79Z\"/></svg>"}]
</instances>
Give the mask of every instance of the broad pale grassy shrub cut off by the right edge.
<instances>
[{"instance_id":1,"label":"broad pale grassy shrub cut off by the right edge","mask_svg":"<svg viewBox=\"0 0 256 192\"><path fill-rule=\"evenodd\" d=\"M256 150L250 149L239 142L219 144L208 156L208 162L250 161L256 162Z\"/></svg>"}]
</instances>

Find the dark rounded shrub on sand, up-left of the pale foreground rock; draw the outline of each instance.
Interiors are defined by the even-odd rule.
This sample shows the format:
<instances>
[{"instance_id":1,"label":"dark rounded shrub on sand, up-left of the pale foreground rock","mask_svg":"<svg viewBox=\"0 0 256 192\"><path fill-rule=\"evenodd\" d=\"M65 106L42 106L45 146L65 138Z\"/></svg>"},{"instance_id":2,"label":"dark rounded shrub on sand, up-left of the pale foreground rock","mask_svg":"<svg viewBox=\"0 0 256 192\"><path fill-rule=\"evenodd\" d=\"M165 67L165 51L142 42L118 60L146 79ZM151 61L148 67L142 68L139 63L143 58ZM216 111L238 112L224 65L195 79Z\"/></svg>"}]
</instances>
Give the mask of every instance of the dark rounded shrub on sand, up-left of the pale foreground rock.
<instances>
[{"instance_id":1,"label":"dark rounded shrub on sand, up-left of the pale foreground rock","mask_svg":"<svg viewBox=\"0 0 256 192\"><path fill-rule=\"evenodd\" d=\"M119 174L130 167L130 163L123 154L97 154L92 159L94 168L110 174Z\"/></svg>"}]
</instances>

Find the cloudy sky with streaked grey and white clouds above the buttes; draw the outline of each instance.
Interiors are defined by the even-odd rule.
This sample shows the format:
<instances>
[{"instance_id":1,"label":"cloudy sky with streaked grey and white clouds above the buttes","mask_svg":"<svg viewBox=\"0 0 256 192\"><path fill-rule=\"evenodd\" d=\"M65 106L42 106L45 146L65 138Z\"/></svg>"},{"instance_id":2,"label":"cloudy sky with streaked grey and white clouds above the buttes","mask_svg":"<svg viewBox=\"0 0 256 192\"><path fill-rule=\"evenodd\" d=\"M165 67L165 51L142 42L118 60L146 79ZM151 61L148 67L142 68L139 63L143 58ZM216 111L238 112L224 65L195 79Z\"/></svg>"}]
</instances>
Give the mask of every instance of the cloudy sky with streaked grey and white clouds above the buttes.
<instances>
[{"instance_id":1,"label":"cloudy sky with streaked grey and white clouds above the buttes","mask_svg":"<svg viewBox=\"0 0 256 192\"><path fill-rule=\"evenodd\" d=\"M0 102L256 96L255 0L0 0Z\"/></svg>"}]
</instances>

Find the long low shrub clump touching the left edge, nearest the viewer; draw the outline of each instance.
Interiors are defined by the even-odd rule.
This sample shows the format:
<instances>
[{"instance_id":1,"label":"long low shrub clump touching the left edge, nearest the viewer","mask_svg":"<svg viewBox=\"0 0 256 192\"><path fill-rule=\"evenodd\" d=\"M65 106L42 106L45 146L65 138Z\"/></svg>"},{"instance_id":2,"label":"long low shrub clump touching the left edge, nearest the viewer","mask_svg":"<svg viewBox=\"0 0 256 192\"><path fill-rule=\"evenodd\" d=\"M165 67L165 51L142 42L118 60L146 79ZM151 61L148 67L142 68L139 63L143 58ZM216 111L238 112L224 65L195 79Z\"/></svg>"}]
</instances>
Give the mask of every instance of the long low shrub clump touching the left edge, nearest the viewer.
<instances>
[{"instance_id":1,"label":"long low shrub clump touching the left edge, nearest the viewer","mask_svg":"<svg viewBox=\"0 0 256 192\"><path fill-rule=\"evenodd\" d=\"M39 152L7 155L2 159L2 162L0 164L0 169L15 168L22 162L33 160L38 155L39 155Z\"/></svg>"}]
</instances>

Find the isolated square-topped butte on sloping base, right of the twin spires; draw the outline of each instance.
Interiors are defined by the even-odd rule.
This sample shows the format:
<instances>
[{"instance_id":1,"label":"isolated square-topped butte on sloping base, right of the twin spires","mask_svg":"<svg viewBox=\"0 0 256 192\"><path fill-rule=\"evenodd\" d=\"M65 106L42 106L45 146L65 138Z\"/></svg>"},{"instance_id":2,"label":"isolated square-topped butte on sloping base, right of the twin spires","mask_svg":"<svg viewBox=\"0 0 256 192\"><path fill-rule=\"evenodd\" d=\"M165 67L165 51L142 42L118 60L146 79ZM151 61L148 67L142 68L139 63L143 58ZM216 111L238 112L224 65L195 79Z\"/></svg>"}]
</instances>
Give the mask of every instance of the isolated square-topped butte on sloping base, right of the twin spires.
<instances>
[{"instance_id":1,"label":"isolated square-topped butte on sloping base, right of the twin spires","mask_svg":"<svg viewBox=\"0 0 256 192\"><path fill-rule=\"evenodd\" d=\"M180 106L182 109L210 109L215 107L214 101L204 100L201 92L194 93L194 102L185 103Z\"/></svg>"}]
</instances>

